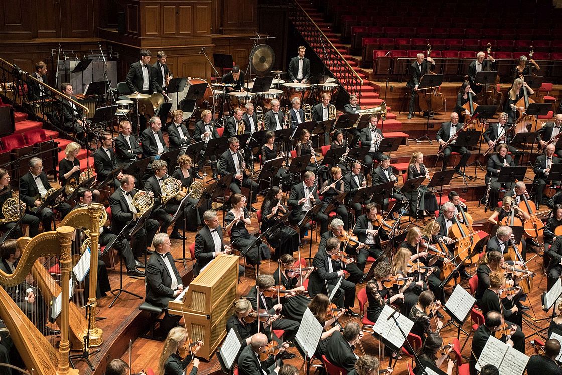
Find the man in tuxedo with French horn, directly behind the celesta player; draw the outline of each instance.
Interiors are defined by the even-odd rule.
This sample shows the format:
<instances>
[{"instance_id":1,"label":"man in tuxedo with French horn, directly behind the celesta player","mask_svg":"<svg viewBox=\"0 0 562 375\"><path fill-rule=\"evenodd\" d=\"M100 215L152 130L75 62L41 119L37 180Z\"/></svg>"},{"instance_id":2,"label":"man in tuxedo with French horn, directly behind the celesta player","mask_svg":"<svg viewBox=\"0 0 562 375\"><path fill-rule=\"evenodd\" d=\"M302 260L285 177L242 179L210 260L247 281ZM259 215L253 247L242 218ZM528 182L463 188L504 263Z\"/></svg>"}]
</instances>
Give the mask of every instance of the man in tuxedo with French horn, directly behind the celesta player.
<instances>
[{"instance_id":1,"label":"man in tuxedo with French horn, directly behind the celesta player","mask_svg":"<svg viewBox=\"0 0 562 375\"><path fill-rule=\"evenodd\" d=\"M130 174L125 174L121 178L121 187L115 188L115 192L109 198L111 207L111 229L115 233L121 233L125 225L137 220L137 207L133 205L133 197L137 194L135 189L135 178ZM130 225L133 229L134 223ZM144 228L146 227L146 232ZM156 231L158 230L158 222L153 219L146 219L146 223L137 232L134 237L133 254L135 258L144 254L147 243L152 242Z\"/></svg>"}]
</instances>

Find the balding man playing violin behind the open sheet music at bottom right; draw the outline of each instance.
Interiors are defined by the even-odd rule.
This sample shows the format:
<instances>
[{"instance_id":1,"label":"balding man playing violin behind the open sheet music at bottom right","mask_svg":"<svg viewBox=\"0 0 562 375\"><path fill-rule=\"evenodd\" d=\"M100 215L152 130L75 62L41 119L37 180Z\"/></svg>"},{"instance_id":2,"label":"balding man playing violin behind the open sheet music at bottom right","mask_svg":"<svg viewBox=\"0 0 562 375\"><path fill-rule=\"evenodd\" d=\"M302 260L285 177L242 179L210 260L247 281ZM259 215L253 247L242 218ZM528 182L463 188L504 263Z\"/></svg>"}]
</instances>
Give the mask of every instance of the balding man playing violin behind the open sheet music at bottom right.
<instances>
[{"instance_id":1,"label":"balding man playing violin behind the open sheet music at bottom right","mask_svg":"<svg viewBox=\"0 0 562 375\"><path fill-rule=\"evenodd\" d=\"M484 346L486 346L486 342L488 342L488 338L490 336L493 336L497 331L502 331L502 333L506 332L507 335L514 335L516 332L515 327L510 329L510 324L505 324L507 322L505 322L504 316L497 311L488 311L488 313L485 314L484 317L484 324L478 327L478 329L474 332L474 336L472 338L472 350L470 350L469 362L470 375L477 375L478 372L475 368L477 359L482 354L482 350L484 350ZM520 335L511 337L502 334L500 341L505 342L507 345L520 351L520 353L525 353L525 340L523 332L520 332Z\"/></svg>"}]
</instances>

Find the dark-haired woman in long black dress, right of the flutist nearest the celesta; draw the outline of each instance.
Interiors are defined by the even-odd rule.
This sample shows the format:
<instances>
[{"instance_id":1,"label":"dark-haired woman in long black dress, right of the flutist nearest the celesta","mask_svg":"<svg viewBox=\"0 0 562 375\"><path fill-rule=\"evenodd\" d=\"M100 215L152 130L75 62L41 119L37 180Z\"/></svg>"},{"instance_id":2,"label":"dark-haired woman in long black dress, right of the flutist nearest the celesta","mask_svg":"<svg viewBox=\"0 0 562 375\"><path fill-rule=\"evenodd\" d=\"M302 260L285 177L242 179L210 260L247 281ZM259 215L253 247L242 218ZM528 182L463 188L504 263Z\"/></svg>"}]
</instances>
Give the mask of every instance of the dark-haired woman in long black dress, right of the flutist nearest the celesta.
<instances>
[{"instance_id":1,"label":"dark-haired woman in long black dress, right of the flutist nearest the celesta","mask_svg":"<svg viewBox=\"0 0 562 375\"><path fill-rule=\"evenodd\" d=\"M287 213L287 207L281 203L283 192L278 186L272 186L261 206L261 232L277 224L279 218ZM292 255L298 248L298 233L286 224L277 225L274 231L266 234L269 245L275 249L273 259L278 260L283 254Z\"/></svg>"}]
</instances>

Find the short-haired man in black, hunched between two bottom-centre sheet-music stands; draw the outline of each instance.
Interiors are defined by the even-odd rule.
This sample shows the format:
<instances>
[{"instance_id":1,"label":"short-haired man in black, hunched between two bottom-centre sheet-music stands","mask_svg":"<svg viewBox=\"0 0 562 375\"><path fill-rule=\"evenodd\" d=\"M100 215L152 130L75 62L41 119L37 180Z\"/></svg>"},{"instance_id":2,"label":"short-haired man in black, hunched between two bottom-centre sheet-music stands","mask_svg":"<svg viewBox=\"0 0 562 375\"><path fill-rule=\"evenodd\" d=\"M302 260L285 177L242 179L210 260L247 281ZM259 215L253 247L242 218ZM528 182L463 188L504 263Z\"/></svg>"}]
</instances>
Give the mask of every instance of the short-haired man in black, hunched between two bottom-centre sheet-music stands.
<instances>
[{"instance_id":1,"label":"short-haired man in black, hunched between two bottom-centre sheet-music stands","mask_svg":"<svg viewBox=\"0 0 562 375\"><path fill-rule=\"evenodd\" d=\"M358 323L348 323L343 328L343 333L334 332L326 346L326 359L337 367L345 369L347 372L355 369L357 356L353 353L355 345L359 343L363 337L361 327Z\"/></svg>"}]
</instances>

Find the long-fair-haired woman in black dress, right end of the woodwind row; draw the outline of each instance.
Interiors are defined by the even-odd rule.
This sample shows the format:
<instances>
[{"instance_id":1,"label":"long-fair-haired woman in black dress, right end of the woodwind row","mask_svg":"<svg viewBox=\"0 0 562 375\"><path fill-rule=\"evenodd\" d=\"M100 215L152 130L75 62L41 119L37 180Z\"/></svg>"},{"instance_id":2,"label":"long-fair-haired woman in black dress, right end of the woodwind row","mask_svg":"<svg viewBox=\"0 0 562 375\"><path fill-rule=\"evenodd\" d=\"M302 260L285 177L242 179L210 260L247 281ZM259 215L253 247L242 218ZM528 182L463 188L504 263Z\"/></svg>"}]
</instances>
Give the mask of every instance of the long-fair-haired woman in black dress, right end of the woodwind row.
<instances>
[{"instance_id":1,"label":"long-fair-haired woman in black dress, right end of the woodwind row","mask_svg":"<svg viewBox=\"0 0 562 375\"><path fill-rule=\"evenodd\" d=\"M408 180L421 176L425 176L429 180L429 171L425 169L423 164L423 153L415 151L408 166ZM410 200L411 215L417 215L418 217L433 216L434 211L439 209L435 196L425 185L420 185L416 191L404 195Z\"/></svg>"}]
</instances>

